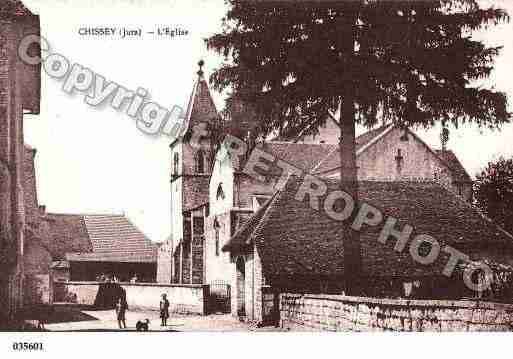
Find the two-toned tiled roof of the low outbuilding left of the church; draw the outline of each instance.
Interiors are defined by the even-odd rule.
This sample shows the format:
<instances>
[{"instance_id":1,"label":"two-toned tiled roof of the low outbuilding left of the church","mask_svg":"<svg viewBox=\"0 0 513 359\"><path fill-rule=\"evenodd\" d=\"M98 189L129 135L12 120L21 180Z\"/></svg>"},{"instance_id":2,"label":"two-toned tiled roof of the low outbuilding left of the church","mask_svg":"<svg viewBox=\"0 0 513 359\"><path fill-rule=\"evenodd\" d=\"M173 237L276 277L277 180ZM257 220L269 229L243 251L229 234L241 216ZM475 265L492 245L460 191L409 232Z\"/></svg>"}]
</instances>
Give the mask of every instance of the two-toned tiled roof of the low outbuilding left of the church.
<instances>
[{"instance_id":1,"label":"two-toned tiled roof of the low outbuilding left of the church","mask_svg":"<svg viewBox=\"0 0 513 359\"><path fill-rule=\"evenodd\" d=\"M48 214L60 258L73 262L153 263L157 246L118 214Z\"/></svg>"}]
</instances>

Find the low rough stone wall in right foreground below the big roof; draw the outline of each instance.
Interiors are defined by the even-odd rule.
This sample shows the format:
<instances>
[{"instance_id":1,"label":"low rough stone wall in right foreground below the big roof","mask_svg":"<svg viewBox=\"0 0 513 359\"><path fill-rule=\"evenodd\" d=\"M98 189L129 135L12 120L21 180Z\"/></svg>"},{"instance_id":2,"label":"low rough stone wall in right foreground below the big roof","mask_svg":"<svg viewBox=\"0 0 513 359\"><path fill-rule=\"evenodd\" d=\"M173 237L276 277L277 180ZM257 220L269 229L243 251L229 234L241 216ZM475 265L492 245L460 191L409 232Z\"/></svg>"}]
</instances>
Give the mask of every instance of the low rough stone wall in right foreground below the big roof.
<instances>
[{"instance_id":1,"label":"low rough stone wall in right foreground below the big roof","mask_svg":"<svg viewBox=\"0 0 513 359\"><path fill-rule=\"evenodd\" d=\"M281 294L280 324L302 331L511 331L513 305Z\"/></svg>"}]
</instances>

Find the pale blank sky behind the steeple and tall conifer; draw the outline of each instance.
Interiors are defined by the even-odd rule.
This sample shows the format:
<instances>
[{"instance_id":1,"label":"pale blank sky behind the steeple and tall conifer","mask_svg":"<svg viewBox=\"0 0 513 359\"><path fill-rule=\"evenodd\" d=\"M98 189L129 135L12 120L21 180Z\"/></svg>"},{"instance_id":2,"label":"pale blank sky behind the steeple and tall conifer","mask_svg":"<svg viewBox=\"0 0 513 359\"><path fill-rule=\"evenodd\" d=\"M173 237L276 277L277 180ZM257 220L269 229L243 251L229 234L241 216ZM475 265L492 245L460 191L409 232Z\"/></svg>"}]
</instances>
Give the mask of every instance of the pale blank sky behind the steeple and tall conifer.
<instances>
[{"instance_id":1,"label":"pale blank sky behind the steeple and tall conifer","mask_svg":"<svg viewBox=\"0 0 513 359\"><path fill-rule=\"evenodd\" d=\"M491 1L486 1L491 3ZM204 59L208 76L222 58L208 52L203 39L221 30L224 0L24 0L41 17L42 35L51 52L64 55L107 80L136 90L171 109L186 108ZM493 1L513 15L513 1ZM169 26L184 37L87 37L80 28L126 27L155 31ZM513 22L476 34L504 49L490 83L513 103ZM223 95L213 92L218 110ZM38 200L48 212L124 213L150 239L170 232L169 138L151 137L133 119L110 107L94 108L83 94L67 95L62 82L42 73L41 114L26 115L25 141L37 149ZM513 106L510 106L513 111ZM359 129L362 132L363 129ZM440 147L440 128L417 131ZM513 156L513 125L501 132L476 127L451 128L449 149L474 175L499 156Z\"/></svg>"}]
</instances>

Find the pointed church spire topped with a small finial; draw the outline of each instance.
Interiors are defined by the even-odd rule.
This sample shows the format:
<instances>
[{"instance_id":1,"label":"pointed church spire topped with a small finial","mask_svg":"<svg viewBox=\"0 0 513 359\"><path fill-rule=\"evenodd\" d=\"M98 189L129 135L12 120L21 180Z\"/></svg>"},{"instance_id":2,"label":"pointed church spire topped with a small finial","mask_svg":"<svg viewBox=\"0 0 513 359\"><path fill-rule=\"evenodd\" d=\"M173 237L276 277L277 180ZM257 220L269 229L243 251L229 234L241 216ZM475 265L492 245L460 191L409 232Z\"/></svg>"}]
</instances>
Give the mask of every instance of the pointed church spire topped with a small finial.
<instances>
[{"instance_id":1,"label":"pointed church spire topped with a small finial","mask_svg":"<svg viewBox=\"0 0 513 359\"><path fill-rule=\"evenodd\" d=\"M192 89L189 104L187 105L186 119L189 129L201 122L210 123L218 117L214 100L210 94L207 81L204 78L204 65L205 62L203 60L198 62L198 78Z\"/></svg>"}]
</instances>

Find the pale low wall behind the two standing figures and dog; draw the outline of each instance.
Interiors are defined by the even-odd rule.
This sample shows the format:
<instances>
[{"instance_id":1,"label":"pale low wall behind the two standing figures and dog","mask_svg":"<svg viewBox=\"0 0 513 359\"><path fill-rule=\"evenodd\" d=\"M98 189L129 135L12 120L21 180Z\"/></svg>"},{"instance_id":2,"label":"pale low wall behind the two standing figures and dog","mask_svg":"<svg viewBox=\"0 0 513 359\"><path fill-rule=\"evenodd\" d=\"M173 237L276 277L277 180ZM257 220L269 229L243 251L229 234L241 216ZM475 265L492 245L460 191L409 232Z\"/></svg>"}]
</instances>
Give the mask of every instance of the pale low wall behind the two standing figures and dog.
<instances>
[{"instance_id":1,"label":"pale low wall behind the two standing figures and dog","mask_svg":"<svg viewBox=\"0 0 513 359\"><path fill-rule=\"evenodd\" d=\"M55 302L94 305L99 282L55 282ZM208 285L118 283L126 292L129 309L159 310L161 295L167 294L170 311L175 313L206 314Z\"/></svg>"}]
</instances>

